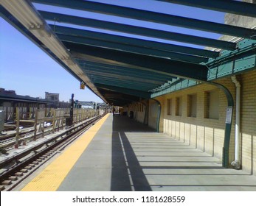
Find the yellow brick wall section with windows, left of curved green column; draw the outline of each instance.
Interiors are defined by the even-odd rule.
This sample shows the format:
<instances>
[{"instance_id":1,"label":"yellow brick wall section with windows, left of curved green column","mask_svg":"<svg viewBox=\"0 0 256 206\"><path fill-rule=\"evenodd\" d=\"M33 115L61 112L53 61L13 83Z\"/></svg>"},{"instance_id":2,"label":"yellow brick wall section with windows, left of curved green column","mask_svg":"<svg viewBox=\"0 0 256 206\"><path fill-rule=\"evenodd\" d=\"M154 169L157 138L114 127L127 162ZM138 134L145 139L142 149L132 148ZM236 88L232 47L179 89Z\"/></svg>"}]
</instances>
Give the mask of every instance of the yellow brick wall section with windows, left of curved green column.
<instances>
[{"instance_id":1,"label":"yellow brick wall section with windows, left of curved green column","mask_svg":"<svg viewBox=\"0 0 256 206\"><path fill-rule=\"evenodd\" d=\"M220 82L220 81L219 81ZM224 82L231 82L230 79L226 79ZM229 84L231 87L232 82ZM214 154L215 157L222 158L222 148L224 143L224 129L226 120L226 96L219 90L220 94L220 115L219 119L204 118L204 99L205 91L218 90L213 85L198 85L193 88L186 90L180 90L175 93L170 93L159 99L162 105L163 113L162 118L164 119L163 132L167 135L171 135L178 140L190 143L195 148L206 151L210 154ZM187 117L187 95L196 93L197 94L197 116ZM174 99L181 97L182 99L182 114L176 116L176 102ZM172 115L167 116L167 99L173 99ZM207 135L206 135L207 134ZM210 135L208 135L210 134ZM214 150L213 150L214 148Z\"/></svg>"}]
</instances>

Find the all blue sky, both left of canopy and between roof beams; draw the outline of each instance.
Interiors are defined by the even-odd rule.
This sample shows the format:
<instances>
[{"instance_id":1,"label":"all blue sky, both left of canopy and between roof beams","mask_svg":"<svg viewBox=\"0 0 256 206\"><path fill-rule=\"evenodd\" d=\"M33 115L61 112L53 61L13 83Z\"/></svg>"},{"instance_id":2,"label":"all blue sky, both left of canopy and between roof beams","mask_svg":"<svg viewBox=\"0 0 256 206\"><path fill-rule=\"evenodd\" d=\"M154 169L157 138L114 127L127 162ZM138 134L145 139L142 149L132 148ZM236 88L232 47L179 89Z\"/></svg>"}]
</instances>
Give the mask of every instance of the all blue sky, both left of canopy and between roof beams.
<instances>
[{"instance_id":1,"label":"all blue sky, both left of canopy and between roof beams","mask_svg":"<svg viewBox=\"0 0 256 206\"><path fill-rule=\"evenodd\" d=\"M98 0L100 1L100 0ZM101 0L102 2L106 2ZM184 7L176 4L167 4L159 1L140 0L123 1L108 0L108 2L118 2L123 6L136 7L145 10L153 10L160 13L170 13L190 18L204 19L224 23L224 13L210 12L193 7ZM71 13L91 18L104 18L107 21L119 21L125 24L135 24L142 26L152 26L156 29L165 29L174 32L189 32L191 35L200 35L208 38L218 38L220 35L208 32L194 31L175 26L163 26L160 24L145 24L142 21L131 21L125 18L114 18L106 15L95 15L93 13L78 13L73 10L56 10L55 7L45 7L35 4L37 9L49 10L61 13ZM88 28L87 28L88 29ZM55 60L52 60L38 46L35 46L29 39L24 37L13 26L0 18L0 88L15 90L19 95L30 95L44 98L44 92L60 93L60 101L69 101L71 94L75 93L75 99L80 101L102 102L102 100L92 93L88 88L80 90L80 82L72 77ZM91 29L94 30L94 29ZM181 43L176 43L181 44ZM182 44L184 45L184 44ZM198 47L198 46L197 46Z\"/></svg>"}]
</instances>

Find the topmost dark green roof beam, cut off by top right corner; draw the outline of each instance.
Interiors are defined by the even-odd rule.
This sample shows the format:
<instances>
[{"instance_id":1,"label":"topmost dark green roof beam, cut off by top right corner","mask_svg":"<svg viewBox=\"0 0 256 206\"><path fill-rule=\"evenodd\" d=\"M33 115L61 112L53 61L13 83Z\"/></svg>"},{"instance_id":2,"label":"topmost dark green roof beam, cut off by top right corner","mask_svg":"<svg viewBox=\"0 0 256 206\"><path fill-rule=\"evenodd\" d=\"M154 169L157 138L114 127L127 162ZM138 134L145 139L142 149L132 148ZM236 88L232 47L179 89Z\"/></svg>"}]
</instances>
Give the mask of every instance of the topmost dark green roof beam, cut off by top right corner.
<instances>
[{"instance_id":1,"label":"topmost dark green roof beam, cut off by top right corner","mask_svg":"<svg viewBox=\"0 0 256 206\"><path fill-rule=\"evenodd\" d=\"M234 13L237 15L246 15L256 17L256 4L241 1L224 0L156 0L165 1L173 4L182 4L190 7L198 7L206 10L215 10L224 13Z\"/></svg>"}]
</instances>

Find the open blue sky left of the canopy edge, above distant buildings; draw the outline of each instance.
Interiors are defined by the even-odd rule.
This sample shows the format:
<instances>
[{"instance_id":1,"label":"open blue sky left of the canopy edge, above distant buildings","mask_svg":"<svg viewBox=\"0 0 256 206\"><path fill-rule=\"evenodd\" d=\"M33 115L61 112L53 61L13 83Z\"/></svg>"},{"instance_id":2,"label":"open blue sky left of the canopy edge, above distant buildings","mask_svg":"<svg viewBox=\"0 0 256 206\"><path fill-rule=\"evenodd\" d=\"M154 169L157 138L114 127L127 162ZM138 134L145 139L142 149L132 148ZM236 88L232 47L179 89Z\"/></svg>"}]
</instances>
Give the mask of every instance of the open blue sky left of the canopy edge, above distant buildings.
<instances>
[{"instance_id":1,"label":"open blue sky left of the canopy edge, above distant buildings","mask_svg":"<svg viewBox=\"0 0 256 206\"><path fill-rule=\"evenodd\" d=\"M80 90L75 77L2 18L0 25L0 88L41 98L45 91L60 93L65 102L74 93L81 101L102 102L88 88Z\"/></svg>"}]
</instances>

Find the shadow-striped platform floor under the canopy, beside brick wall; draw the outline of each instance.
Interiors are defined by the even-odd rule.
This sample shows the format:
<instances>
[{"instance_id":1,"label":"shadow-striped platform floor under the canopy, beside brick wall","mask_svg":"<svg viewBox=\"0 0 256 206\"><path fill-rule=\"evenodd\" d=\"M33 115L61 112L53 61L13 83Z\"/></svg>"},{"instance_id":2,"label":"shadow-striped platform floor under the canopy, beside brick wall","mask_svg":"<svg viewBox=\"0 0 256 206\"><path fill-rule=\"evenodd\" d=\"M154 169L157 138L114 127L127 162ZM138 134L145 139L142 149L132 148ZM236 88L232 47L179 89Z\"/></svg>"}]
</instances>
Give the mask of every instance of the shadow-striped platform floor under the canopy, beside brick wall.
<instances>
[{"instance_id":1,"label":"shadow-striped platform floor under the canopy, beside brick wall","mask_svg":"<svg viewBox=\"0 0 256 206\"><path fill-rule=\"evenodd\" d=\"M256 190L244 171L144 124L117 115L112 125L111 191Z\"/></svg>"}]
</instances>

